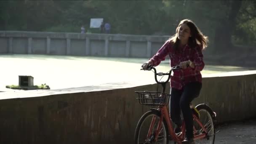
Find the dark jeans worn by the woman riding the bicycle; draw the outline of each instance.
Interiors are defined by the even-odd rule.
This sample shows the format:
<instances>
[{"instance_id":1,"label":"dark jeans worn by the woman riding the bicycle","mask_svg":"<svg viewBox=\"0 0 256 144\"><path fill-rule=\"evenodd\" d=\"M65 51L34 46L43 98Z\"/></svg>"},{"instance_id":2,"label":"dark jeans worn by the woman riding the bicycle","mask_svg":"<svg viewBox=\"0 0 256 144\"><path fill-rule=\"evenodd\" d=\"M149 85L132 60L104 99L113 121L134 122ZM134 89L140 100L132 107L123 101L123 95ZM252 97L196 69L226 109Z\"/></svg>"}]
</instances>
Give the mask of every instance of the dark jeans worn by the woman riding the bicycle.
<instances>
[{"instance_id":1,"label":"dark jeans worn by the woman riding the bicycle","mask_svg":"<svg viewBox=\"0 0 256 144\"><path fill-rule=\"evenodd\" d=\"M170 115L173 122L181 126L181 111L186 125L186 136L193 138L193 116L189 103L199 96L202 83L192 82L184 85L182 90L171 88Z\"/></svg>"}]
</instances>

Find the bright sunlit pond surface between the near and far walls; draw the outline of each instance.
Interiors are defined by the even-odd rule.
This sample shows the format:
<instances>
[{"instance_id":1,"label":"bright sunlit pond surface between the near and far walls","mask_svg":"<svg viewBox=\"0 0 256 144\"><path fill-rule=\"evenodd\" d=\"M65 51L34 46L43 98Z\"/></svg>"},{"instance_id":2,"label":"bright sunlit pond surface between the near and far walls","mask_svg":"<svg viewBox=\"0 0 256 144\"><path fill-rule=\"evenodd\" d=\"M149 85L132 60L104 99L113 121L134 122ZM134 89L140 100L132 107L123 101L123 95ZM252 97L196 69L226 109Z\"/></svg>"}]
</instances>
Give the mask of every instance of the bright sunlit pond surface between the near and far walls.
<instances>
[{"instance_id":1,"label":"bright sunlit pond surface between the near and far walls","mask_svg":"<svg viewBox=\"0 0 256 144\"><path fill-rule=\"evenodd\" d=\"M19 75L34 77L34 85L46 83L51 89L99 85L102 83L155 83L151 71L141 71L147 59L107 58L90 56L0 55L0 91L10 91L5 85L18 85ZM168 72L168 60L157 71ZM249 70L243 67L208 65L207 74Z\"/></svg>"}]
</instances>

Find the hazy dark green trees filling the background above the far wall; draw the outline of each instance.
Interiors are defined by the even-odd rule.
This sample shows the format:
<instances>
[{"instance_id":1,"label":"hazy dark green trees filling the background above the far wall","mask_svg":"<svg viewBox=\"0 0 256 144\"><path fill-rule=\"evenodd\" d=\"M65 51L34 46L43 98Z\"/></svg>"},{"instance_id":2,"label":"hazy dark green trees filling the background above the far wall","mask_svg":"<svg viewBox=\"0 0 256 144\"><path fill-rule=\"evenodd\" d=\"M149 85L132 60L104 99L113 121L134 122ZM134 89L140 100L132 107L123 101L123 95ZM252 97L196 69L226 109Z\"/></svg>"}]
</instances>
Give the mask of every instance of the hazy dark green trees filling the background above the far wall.
<instances>
[{"instance_id":1,"label":"hazy dark green trees filling the background above the far wall","mask_svg":"<svg viewBox=\"0 0 256 144\"><path fill-rule=\"evenodd\" d=\"M192 19L215 51L256 39L256 1L251 0L1 0L0 29L80 32L104 18L112 33L173 35Z\"/></svg>"}]
</instances>

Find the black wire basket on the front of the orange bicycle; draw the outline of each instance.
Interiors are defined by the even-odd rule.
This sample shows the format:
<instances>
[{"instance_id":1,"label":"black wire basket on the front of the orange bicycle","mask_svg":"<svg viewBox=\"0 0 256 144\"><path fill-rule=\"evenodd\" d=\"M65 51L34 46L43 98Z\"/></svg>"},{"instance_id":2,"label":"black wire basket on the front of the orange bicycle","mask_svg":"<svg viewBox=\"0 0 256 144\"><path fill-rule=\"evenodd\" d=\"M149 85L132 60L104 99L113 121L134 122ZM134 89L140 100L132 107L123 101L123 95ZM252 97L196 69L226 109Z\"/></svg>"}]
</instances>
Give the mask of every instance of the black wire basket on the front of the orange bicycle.
<instances>
[{"instance_id":1,"label":"black wire basket on the front of the orange bicycle","mask_svg":"<svg viewBox=\"0 0 256 144\"><path fill-rule=\"evenodd\" d=\"M140 104L149 106L166 106L169 102L170 94L157 91L135 91L139 94Z\"/></svg>"}]
</instances>

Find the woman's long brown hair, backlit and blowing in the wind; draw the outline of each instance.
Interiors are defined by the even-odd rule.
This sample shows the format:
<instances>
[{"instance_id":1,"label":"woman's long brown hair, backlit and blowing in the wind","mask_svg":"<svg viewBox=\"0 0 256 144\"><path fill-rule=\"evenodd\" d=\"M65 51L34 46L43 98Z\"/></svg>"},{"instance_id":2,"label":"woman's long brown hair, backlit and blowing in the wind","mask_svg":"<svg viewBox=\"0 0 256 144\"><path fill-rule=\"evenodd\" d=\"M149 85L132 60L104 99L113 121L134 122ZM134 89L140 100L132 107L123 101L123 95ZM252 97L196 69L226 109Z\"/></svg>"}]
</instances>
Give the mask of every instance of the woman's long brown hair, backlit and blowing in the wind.
<instances>
[{"instance_id":1,"label":"woman's long brown hair, backlit and blowing in the wind","mask_svg":"<svg viewBox=\"0 0 256 144\"><path fill-rule=\"evenodd\" d=\"M196 45L200 45L200 47L205 49L208 43L208 37L203 35L203 33L198 29L195 23L189 19L182 20L178 27L176 28L176 34L170 37L167 41L173 43L173 48L177 50L179 48L179 38L178 38L178 29L181 24L187 24L190 29L191 37L189 37L188 45L190 48L195 48Z\"/></svg>"}]
</instances>

